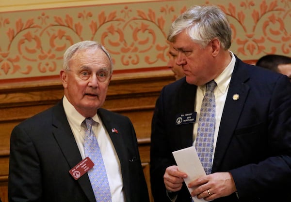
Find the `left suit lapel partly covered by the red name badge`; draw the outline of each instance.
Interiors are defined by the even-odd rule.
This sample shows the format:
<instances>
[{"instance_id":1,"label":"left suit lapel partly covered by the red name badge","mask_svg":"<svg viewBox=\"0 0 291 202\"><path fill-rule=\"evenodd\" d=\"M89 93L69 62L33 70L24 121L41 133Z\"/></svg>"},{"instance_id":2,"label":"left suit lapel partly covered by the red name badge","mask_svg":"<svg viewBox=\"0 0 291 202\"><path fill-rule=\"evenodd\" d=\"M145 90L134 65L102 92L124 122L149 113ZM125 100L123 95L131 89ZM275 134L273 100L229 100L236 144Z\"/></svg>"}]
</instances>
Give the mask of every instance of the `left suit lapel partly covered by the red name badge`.
<instances>
[{"instance_id":1,"label":"left suit lapel partly covered by the red name badge","mask_svg":"<svg viewBox=\"0 0 291 202\"><path fill-rule=\"evenodd\" d=\"M82 160L82 158L72 130L65 116L62 101L60 101L54 108L52 126L53 135L58 142L63 155L69 164L69 167L73 168ZM90 202L96 202L88 174L84 174L77 181Z\"/></svg>"}]
</instances>

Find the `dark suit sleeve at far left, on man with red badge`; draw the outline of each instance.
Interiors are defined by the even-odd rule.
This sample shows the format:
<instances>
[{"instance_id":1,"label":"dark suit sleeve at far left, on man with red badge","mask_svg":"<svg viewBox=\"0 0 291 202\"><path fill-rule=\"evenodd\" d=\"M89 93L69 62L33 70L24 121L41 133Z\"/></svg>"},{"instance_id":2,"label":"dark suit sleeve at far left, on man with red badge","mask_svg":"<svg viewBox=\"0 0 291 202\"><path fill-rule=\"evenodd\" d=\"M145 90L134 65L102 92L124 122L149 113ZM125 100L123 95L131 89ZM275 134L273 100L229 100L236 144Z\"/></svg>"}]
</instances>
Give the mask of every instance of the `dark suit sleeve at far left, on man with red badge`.
<instances>
[{"instance_id":1,"label":"dark suit sleeve at far left, on man with red badge","mask_svg":"<svg viewBox=\"0 0 291 202\"><path fill-rule=\"evenodd\" d=\"M40 163L27 131L16 126L10 139L9 202L40 202Z\"/></svg>"}]
</instances>

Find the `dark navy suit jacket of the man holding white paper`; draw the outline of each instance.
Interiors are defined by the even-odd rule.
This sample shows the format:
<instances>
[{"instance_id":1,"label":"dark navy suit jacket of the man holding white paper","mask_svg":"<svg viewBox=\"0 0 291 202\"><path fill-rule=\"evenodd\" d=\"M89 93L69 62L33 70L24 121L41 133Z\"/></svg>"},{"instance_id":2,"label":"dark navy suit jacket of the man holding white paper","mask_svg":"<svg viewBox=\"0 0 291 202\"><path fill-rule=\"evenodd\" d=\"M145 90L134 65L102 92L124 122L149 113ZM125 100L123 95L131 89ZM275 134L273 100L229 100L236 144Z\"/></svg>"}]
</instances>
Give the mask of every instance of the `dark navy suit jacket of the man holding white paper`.
<instances>
[{"instance_id":1,"label":"dark navy suit jacket of the man holding white paper","mask_svg":"<svg viewBox=\"0 0 291 202\"><path fill-rule=\"evenodd\" d=\"M194 112L196 86L185 78L162 89L152 119L151 188L155 201L167 202L163 174L175 165L172 151L192 146L193 123L176 116ZM232 96L239 94L235 101ZM191 159L189 159L191 160ZM217 202L291 201L291 84L282 74L236 58L213 159L212 173L230 172L235 194ZM185 184L176 202L190 202Z\"/></svg>"}]
</instances>

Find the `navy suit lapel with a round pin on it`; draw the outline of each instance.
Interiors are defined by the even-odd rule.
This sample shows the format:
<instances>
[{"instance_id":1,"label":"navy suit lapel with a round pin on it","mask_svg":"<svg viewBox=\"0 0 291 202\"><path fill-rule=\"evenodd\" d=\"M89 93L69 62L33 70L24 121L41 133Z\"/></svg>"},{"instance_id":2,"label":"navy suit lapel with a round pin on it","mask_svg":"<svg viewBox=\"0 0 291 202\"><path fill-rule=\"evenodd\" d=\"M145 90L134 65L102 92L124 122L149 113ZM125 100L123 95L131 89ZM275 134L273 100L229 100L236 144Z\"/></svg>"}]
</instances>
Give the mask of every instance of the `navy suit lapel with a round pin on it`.
<instances>
[{"instance_id":1,"label":"navy suit lapel with a round pin on it","mask_svg":"<svg viewBox=\"0 0 291 202\"><path fill-rule=\"evenodd\" d=\"M221 117L220 128L214 153L212 173L219 169L225 155L230 139L240 118L249 86L245 83L249 79L248 72L243 69L242 61L236 58L236 65L232 73L229 89L226 96L225 107ZM239 99L233 96L239 95Z\"/></svg>"}]
</instances>

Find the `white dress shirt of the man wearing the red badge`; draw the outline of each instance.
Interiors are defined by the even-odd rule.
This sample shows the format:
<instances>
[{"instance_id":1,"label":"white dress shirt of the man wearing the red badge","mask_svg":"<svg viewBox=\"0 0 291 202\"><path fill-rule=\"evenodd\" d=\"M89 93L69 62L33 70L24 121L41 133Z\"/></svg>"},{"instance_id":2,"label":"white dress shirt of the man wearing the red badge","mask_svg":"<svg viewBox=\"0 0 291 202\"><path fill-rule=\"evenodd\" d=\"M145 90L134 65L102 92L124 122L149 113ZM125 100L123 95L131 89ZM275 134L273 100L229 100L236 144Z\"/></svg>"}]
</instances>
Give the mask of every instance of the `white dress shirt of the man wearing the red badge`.
<instances>
[{"instance_id":1,"label":"white dress shirt of the man wearing the red badge","mask_svg":"<svg viewBox=\"0 0 291 202\"><path fill-rule=\"evenodd\" d=\"M86 124L83 123L83 121L86 117L82 116L65 96L63 98L63 105L65 109L65 115L74 134L76 143L81 153L81 157L82 159L85 159L84 138ZM110 186L112 202L125 202L120 161L114 149L114 145L99 116L96 114L92 117L92 119L96 122L93 124L92 129L96 135L97 142L103 157Z\"/></svg>"}]
</instances>

